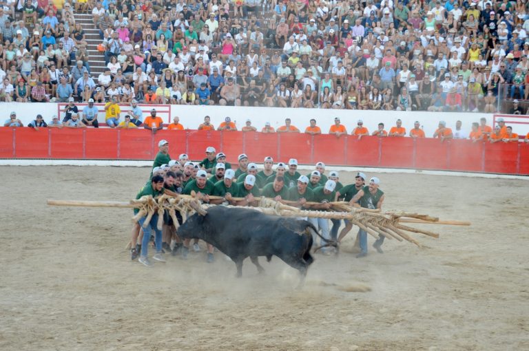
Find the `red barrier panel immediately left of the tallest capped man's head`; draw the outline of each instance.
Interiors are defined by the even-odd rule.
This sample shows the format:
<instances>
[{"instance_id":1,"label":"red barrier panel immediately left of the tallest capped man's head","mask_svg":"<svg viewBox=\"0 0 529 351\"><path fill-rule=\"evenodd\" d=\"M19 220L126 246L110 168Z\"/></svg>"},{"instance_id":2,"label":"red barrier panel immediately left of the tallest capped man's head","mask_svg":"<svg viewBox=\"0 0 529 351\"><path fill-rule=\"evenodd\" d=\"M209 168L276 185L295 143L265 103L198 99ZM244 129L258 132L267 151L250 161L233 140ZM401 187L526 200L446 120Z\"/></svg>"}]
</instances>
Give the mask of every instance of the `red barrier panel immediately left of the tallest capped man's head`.
<instances>
[{"instance_id":1,"label":"red barrier panel immediately left of the tallest capped man's head","mask_svg":"<svg viewBox=\"0 0 529 351\"><path fill-rule=\"evenodd\" d=\"M118 149L121 160L154 160L152 131L148 129L122 129L118 133Z\"/></svg>"}]
</instances>

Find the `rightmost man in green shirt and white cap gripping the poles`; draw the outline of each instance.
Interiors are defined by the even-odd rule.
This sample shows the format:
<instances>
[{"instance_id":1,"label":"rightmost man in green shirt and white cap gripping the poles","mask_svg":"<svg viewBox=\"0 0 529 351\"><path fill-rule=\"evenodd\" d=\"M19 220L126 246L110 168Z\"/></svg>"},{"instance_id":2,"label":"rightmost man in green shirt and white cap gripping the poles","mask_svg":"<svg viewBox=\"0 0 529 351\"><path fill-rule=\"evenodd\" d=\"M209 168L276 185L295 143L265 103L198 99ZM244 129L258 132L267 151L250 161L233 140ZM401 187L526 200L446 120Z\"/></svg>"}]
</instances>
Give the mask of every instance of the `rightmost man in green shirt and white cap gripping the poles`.
<instances>
[{"instance_id":1,"label":"rightmost man in green shirt and white cap gripping the poles","mask_svg":"<svg viewBox=\"0 0 529 351\"><path fill-rule=\"evenodd\" d=\"M379 189L380 179L373 177L369 180L369 185L363 187L356 193L356 195L351 199L351 202L359 202L360 206L364 209L382 209L382 202L384 202L384 192ZM357 258L366 257L367 255L367 233L366 231L360 229L358 231L360 235L360 253L356 255ZM378 253L384 253L382 251L382 244L384 243L384 235L380 235L379 238L373 244L373 247L377 250Z\"/></svg>"}]
</instances>

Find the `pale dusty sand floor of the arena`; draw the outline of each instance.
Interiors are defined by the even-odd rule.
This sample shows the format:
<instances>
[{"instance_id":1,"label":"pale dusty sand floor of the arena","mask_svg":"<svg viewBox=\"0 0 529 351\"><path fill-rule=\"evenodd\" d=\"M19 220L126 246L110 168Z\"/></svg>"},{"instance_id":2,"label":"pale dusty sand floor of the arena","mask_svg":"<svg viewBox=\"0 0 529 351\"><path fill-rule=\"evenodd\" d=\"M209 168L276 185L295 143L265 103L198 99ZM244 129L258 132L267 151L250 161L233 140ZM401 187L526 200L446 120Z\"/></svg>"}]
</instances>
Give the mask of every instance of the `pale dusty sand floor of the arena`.
<instances>
[{"instance_id":1,"label":"pale dusty sand floor of the arena","mask_svg":"<svg viewBox=\"0 0 529 351\"><path fill-rule=\"evenodd\" d=\"M473 225L428 226L441 237L415 235L422 249L386 240L380 255L370 238L364 259L316 255L298 291L277 257L242 279L204 251L146 268L124 250L131 210L45 204L129 200L148 169L0 172L1 350L529 349L527 181L380 174L384 209Z\"/></svg>"}]
</instances>

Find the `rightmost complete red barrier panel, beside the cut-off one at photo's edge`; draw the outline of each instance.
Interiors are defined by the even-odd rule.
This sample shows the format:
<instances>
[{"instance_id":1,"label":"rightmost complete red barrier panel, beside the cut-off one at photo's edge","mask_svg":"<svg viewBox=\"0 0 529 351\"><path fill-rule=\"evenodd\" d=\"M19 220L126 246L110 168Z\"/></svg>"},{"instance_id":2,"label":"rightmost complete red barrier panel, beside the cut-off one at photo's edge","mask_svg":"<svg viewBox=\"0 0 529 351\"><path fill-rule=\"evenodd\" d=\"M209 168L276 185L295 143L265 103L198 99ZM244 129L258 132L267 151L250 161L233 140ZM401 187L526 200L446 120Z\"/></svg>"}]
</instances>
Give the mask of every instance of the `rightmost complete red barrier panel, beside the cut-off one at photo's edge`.
<instances>
[{"instance_id":1,"label":"rightmost complete red barrier panel, beside the cut-off one at photo's edge","mask_svg":"<svg viewBox=\"0 0 529 351\"><path fill-rule=\"evenodd\" d=\"M485 171L491 173L516 173L518 142L485 144Z\"/></svg>"}]
</instances>

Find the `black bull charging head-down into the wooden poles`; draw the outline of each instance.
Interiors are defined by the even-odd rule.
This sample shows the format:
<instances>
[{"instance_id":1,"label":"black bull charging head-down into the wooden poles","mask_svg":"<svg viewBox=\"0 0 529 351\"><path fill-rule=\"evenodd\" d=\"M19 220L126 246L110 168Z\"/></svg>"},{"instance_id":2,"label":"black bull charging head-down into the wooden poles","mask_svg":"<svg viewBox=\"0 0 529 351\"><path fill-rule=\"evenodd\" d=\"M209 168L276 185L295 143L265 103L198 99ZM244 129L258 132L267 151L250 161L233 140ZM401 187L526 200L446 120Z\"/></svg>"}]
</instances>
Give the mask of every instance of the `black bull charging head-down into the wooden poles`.
<instances>
[{"instance_id":1,"label":"black bull charging head-down into the wooden poles","mask_svg":"<svg viewBox=\"0 0 529 351\"><path fill-rule=\"evenodd\" d=\"M183 239L201 239L229 256L242 276L242 261L250 257L259 272L264 269L258 256L273 255L300 271L302 279L313 262L312 233L316 228L306 220L265 215L251 209L214 206L206 215L195 213L178 228Z\"/></svg>"}]
</instances>

